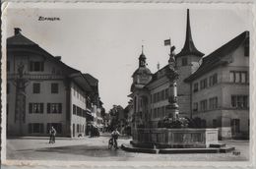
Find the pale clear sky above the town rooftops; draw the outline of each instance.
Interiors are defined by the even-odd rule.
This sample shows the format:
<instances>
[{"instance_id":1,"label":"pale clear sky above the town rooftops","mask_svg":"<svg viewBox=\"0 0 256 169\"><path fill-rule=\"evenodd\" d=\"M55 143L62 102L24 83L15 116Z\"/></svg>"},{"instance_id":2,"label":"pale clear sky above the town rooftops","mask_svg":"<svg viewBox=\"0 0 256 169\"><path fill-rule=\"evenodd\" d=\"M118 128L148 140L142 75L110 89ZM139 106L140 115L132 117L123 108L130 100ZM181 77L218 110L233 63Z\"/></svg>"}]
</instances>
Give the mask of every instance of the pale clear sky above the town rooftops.
<instances>
[{"instance_id":1,"label":"pale clear sky above the town rooftops","mask_svg":"<svg viewBox=\"0 0 256 169\"><path fill-rule=\"evenodd\" d=\"M9 6L5 11L6 35L14 28L67 65L93 75L99 81L99 96L106 111L113 104L128 104L132 74L144 45L148 67L155 73L167 64L171 38L178 53L184 44L186 5L174 7L60 8ZM249 6L230 8L190 7L192 37L197 49L210 54L244 30L252 29ZM38 21L38 17L60 21Z\"/></svg>"}]
</instances>

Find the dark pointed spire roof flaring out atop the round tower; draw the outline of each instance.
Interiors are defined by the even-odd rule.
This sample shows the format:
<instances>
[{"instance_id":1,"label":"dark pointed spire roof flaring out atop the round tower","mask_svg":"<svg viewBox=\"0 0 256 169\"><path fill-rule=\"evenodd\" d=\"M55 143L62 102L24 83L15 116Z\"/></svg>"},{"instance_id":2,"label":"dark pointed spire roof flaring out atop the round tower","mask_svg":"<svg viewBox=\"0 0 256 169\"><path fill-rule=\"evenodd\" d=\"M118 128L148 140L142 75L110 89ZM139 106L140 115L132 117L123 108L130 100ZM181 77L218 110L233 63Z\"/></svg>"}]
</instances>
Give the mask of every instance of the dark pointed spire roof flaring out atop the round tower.
<instances>
[{"instance_id":1,"label":"dark pointed spire roof flaring out atop the round tower","mask_svg":"<svg viewBox=\"0 0 256 169\"><path fill-rule=\"evenodd\" d=\"M195 44L193 42L191 28L190 28L190 19L189 19L189 9L187 9L187 27L186 27L186 39L183 48L181 51L176 55L177 57L184 56L184 55L195 55L199 57L203 57L204 53L197 50Z\"/></svg>"}]
</instances>

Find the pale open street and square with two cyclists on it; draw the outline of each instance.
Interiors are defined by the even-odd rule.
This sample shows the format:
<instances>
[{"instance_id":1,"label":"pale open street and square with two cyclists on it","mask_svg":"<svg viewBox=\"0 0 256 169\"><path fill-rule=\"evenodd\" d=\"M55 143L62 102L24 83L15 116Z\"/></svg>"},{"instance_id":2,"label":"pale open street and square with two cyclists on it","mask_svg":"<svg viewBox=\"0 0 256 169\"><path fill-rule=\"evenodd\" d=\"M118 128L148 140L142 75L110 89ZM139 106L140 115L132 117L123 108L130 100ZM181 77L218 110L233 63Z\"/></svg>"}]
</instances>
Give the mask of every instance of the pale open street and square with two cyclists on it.
<instances>
[{"instance_id":1,"label":"pale open street and square with two cyclists on it","mask_svg":"<svg viewBox=\"0 0 256 169\"><path fill-rule=\"evenodd\" d=\"M49 144L48 138L21 138L7 140L7 159L19 160L72 160L72 161L244 161L249 159L249 141L220 141L233 145L239 155L229 153L193 154L148 154L126 152L122 149L109 150L109 137L57 138ZM121 137L118 145L129 143L130 138Z\"/></svg>"}]
</instances>

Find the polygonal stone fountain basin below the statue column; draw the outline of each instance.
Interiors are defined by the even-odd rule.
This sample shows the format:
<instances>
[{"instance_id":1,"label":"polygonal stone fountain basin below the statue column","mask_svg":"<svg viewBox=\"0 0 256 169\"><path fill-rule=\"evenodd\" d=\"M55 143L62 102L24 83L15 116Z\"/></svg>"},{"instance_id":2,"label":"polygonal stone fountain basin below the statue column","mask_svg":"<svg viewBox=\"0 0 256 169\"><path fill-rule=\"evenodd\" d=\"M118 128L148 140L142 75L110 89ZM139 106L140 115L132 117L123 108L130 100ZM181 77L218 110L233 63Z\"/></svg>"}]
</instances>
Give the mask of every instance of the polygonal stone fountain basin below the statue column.
<instances>
[{"instance_id":1,"label":"polygonal stone fountain basin below the statue column","mask_svg":"<svg viewBox=\"0 0 256 169\"><path fill-rule=\"evenodd\" d=\"M131 144L146 148L206 148L218 144L218 129L137 128Z\"/></svg>"}]
</instances>

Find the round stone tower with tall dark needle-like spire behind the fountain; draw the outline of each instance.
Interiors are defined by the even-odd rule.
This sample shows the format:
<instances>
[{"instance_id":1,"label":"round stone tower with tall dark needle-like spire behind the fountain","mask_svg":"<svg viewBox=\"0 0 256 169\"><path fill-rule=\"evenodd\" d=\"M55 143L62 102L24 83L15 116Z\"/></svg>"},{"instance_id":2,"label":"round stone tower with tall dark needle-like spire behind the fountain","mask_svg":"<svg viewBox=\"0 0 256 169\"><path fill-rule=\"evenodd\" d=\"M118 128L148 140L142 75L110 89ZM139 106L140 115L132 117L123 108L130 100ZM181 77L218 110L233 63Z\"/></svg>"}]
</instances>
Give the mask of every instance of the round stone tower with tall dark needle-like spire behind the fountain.
<instances>
[{"instance_id":1,"label":"round stone tower with tall dark needle-like spire behind the fountain","mask_svg":"<svg viewBox=\"0 0 256 169\"><path fill-rule=\"evenodd\" d=\"M179 74L178 86L178 105L179 114L183 117L190 117L190 84L185 84L184 79L189 77L199 68L199 61L204 56L204 53L197 50L193 42L191 28L190 28L190 16L189 9L187 9L187 27L185 43L181 51L176 55L176 66Z\"/></svg>"}]
</instances>

